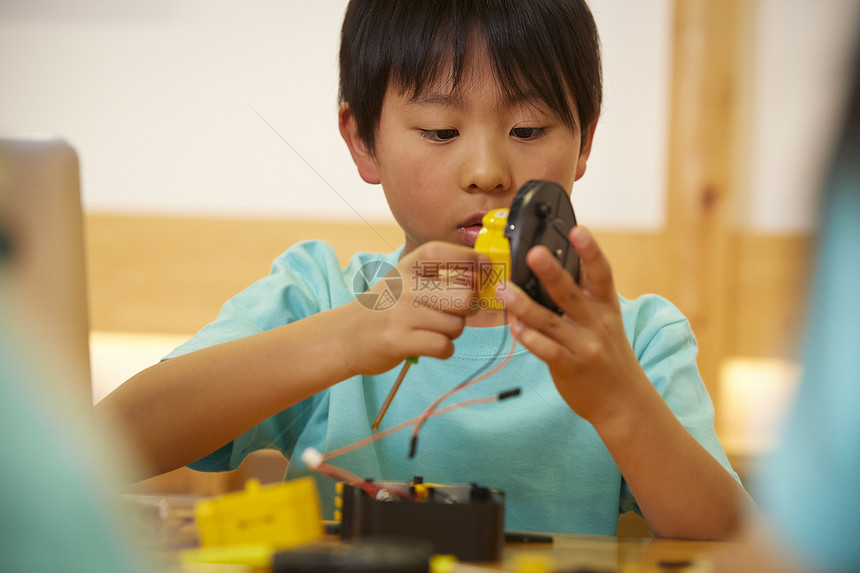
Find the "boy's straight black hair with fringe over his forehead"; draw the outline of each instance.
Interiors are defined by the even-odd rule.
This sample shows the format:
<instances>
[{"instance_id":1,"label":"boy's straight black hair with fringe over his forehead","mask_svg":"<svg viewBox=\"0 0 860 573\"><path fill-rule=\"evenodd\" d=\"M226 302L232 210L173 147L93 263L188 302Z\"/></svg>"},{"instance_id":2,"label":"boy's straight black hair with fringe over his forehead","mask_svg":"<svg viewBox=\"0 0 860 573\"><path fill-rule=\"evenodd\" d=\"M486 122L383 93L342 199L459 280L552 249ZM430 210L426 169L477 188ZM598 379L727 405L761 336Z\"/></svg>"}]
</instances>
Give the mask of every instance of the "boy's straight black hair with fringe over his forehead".
<instances>
[{"instance_id":1,"label":"boy's straight black hair with fringe over his forehead","mask_svg":"<svg viewBox=\"0 0 860 573\"><path fill-rule=\"evenodd\" d=\"M486 45L507 103L542 103L585 134L602 82L597 29L584 1L352 0L341 34L340 100L349 102L371 150L389 82L413 97L438 81L456 91L470 41Z\"/></svg>"}]
</instances>

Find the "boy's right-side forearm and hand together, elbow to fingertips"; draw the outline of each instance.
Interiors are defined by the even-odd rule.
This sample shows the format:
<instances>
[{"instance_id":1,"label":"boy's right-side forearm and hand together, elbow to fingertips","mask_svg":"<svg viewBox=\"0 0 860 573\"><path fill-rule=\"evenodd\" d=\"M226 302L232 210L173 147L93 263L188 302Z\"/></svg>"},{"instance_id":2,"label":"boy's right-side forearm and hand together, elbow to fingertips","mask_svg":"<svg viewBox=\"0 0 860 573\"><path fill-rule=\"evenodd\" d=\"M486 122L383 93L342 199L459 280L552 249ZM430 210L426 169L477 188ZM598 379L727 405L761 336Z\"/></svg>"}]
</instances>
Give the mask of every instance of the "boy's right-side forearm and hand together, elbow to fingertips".
<instances>
[{"instance_id":1,"label":"boy's right-side forearm and hand together, elbow to fingertips","mask_svg":"<svg viewBox=\"0 0 860 573\"><path fill-rule=\"evenodd\" d=\"M517 321L520 342L547 363L559 394L594 426L654 535L725 539L752 501L648 380L594 237L574 227L569 239L580 256L580 285L546 248L526 257L564 315L510 283L496 289Z\"/></svg>"}]
</instances>

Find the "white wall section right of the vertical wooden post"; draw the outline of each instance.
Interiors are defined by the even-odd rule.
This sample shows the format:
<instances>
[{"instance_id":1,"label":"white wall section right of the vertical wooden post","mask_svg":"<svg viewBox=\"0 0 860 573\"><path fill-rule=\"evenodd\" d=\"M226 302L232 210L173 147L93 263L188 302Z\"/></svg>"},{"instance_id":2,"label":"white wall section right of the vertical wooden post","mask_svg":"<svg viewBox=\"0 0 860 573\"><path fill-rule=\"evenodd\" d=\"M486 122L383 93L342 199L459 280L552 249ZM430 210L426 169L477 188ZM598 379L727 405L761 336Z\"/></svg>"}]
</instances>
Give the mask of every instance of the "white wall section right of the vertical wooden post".
<instances>
[{"instance_id":1,"label":"white wall section right of the vertical wooden post","mask_svg":"<svg viewBox=\"0 0 860 573\"><path fill-rule=\"evenodd\" d=\"M858 0L759 0L745 223L811 228L851 80Z\"/></svg>"}]
</instances>

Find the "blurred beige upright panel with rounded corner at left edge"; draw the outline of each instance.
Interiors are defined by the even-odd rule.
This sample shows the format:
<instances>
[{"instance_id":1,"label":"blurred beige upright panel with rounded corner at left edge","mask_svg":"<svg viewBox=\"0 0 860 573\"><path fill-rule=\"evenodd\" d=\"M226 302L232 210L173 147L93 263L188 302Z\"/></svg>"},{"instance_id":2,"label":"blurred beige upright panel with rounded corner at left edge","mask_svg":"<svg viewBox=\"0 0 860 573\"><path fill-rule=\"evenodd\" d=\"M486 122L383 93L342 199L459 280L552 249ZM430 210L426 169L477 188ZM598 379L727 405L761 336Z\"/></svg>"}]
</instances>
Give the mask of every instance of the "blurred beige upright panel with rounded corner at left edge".
<instances>
[{"instance_id":1,"label":"blurred beige upright panel with rounded corner at left edge","mask_svg":"<svg viewBox=\"0 0 860 573\"><path fill-rule=\"evenodd\" d=\"M6 289L21 323L61 355L64 384L90 402L83 208L71 145L0 137L0 224L10 250Z\"/></svg>"}]
</instances>

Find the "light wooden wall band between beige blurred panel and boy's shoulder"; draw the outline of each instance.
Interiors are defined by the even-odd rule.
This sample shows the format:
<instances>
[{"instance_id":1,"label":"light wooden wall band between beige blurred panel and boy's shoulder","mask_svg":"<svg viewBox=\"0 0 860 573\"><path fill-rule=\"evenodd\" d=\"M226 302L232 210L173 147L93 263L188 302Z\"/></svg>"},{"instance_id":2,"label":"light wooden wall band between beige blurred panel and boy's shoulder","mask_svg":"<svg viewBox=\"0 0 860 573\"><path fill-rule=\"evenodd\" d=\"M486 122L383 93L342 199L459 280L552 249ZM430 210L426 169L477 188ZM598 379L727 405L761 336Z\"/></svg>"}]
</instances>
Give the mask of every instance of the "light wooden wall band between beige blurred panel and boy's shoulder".
<instances>
[{"instance_id":1,"label":"light wooden wall band between beige blurred panel and boy's shoulder","mask_svg":"<svg viewBox=\"0 0 860 573\"><path fill-rule=\"evenodd\" d=\"M87 216L86 235L91 327L168 333L196 332L298 241L324 237L341 262L402 242L394 225L125 215Z\"/></svg>"}]
</instances>

